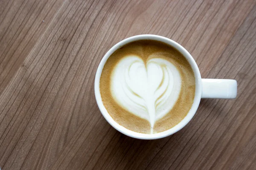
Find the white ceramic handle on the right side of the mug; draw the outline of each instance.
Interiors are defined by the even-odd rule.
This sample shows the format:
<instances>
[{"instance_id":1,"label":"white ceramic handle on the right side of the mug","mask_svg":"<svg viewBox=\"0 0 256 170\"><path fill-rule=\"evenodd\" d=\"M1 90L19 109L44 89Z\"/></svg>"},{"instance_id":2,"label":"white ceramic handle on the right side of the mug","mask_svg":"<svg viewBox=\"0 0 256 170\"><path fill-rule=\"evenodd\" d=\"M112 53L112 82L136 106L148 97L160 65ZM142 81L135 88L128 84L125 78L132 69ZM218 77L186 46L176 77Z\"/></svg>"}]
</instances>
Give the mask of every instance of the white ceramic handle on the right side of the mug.
<instances>
[{"instance_id":1,"label":"white ceramic handle on the right side of the mug","mask_svg":"<svg viewBox=\"0 0 256 170\"><path fill-rule=\"evenodd\" d=\"M235 99L237 82L234 79L202 79L201 98Z\"/></svg>"}]
</instances>

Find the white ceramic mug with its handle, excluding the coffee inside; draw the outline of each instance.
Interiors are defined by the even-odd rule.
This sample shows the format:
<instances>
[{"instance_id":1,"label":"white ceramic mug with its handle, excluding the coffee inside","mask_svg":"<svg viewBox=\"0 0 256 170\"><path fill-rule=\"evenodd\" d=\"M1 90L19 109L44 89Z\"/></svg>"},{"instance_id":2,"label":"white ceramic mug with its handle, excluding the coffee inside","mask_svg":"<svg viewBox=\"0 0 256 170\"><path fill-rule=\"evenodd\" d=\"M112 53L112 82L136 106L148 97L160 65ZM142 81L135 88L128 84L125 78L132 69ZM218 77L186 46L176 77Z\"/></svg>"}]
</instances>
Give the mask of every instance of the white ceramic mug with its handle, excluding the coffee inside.
<instances>
[{"instance_id":1,"label":"white ceramic mug with its handle, excluding the coffee inside","mask_svg":"<svg viewBox=\"0 0 256 170\"><path fill-rule=\"evenodd\" d=\"M160 133L154 133L154 134L144 134L144 133L137 133L132 130L128 130L125 127L119 125L117 122L113 120L113 118L109 115L108 111L105 109L102 98L99 91L99 80L102 74L102 69L105 65L105 62L107 61L108 57L113 54L114 51L116 51L118 48L122 47L125 44L128 44L129 42L134 42L137 40L157 40L161 42L165 42L166 44L169 44L176 48L180 53L186 57L186 59L189 61L194 74L195 74L195 98L194 103L189 110L189 113L186 115L186 117L178 123L176 126L172 127L169 130L160 132ZM151 35L151 34L145 34L145 35L137 35L134 37L129 37L125 40L122 40L118 42L116 45L114 45L102 58L101 62L99 63L99 67L96 72L95 77L95 84L94 84L94 90L95 90L95 96L96 101L99 106L99 110L101 111L102 115L105 117L105 119L112 125L116 130L119 132L131 136L133 138L137 139L159 139L163 138L169 135L172 135L173 133L177 132L181 128L183 128L195 115L195 112L198 109L199 102L201 98L218 98L218 99L234 99L236 98L237 94L237 82L233 79L201 79L201 74L198 69L198 65L196 64L193 57L189 54L188 51L186 51L185 48L183 48L180 44L177 42L170 40L169 38L158 36L158 35Z\"/></svg>"}]
</instances>

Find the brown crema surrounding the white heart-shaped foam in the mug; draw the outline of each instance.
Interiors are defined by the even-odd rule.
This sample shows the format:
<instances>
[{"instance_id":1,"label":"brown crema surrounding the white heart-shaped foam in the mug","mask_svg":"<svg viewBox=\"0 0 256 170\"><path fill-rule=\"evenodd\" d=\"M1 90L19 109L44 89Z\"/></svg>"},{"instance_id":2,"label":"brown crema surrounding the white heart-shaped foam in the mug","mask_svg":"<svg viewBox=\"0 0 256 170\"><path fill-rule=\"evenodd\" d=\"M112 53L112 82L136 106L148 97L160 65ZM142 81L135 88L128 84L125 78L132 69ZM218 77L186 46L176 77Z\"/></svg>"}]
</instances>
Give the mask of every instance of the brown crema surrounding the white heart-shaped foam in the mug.
<instances>
[{"instance_id":1,"label":"brown crema surrounding the white heart-shaped foam in the mug","mask_svg":"<svg viewBox=\"0 0 256 170\"><path fill-rule=\"evenodd\" d=\"M139 133L151 133L148 120L142 119L122 108L113 99L111 94L111 74L117 63L124 57L136 55L147 63L151 54L159 54L154 58L162 58L171 62L180 73L181 90L173 108L157 120L154 124L153 133L171 129L182 121L190 108L195 97L195 75L186 58L174 47L155 40L138 40L128 43L116 50L107 60L100 77L100 94L103 105L110 116L123 127ZM174 82L175 83L175 82Z\"/></svg>"}]
</instances>

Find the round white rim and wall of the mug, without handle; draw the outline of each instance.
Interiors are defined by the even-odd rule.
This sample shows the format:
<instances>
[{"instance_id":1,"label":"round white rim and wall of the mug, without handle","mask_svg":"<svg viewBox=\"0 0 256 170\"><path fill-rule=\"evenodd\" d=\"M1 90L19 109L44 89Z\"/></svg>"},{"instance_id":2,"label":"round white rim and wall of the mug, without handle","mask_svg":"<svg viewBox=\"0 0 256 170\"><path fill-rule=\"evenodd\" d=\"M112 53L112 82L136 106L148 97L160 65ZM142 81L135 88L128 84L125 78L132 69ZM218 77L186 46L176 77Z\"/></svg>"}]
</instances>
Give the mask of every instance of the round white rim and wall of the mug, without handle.
<instances>
[{"instance_id":1,"label":"round white rim and wall of the mug, without handle","mask_svg":"<svg viewBox=\"0 0 256 170\"><path fill-rule=\"evenodd\" d=\"M186 57L190 66L192 67L192 70L194 71L194 75L195 75L195 97L194 97L194 102L193 102L192 107L190 108L189 112L187 113L185 118L182 119L177 125L175 125L174 127L170 128L168 130L165 130L165 131L159 132L159 133L153 133L153 134L138 133L138 132L134 132L132 130L127 129L127 128L123 127L122 125L119 125L110 116L110 114L104 107L102 98L101 98L101 94L100 94L100 90L99 90L100 89L99 81L100 81L100 77L102 74L102 70L104 68L106 61L111 56L111 54L113 54L113 52L115 52L117 49L121 48L122 46L124 46L130 42L134 42L134 41L138 41L138 40L157 40L157 41L169 44L172 47L176 48L178 51L180 51L181 54L183 54L184 57ZM202 82L201 82L201 74L200 74L198 65L196 64L196 62L193 59L193 57L191 56L191 54L189 54L189 52L182 45L178 44L177 42L175 42L169 38L162 37L159 35L141 34L141 35L136 35L136 36L126 38L126 39L116 43L116 45L114 45L112 48L110 48L108 50L108 52L104 55L104 57L102 58L101 62L99 63L99 66L97 68L95 82L94 82L94 91L95 91L96 102L99 107L99 110L101 111L101 113L105 117L105 119L108 121L108 123L112 127L114 127L116 130L118 130L119 132L121 132L127 136L137 138L137 139L160 139L160 138L163 138L166 136L170 136L170 135L176 133L177 131L179 131L180 129L182 129L184 126L186 126L188 124L188 122L195 115L195 112L197 111L200 100L201 100Z\"/></svg>"}]
</instances>

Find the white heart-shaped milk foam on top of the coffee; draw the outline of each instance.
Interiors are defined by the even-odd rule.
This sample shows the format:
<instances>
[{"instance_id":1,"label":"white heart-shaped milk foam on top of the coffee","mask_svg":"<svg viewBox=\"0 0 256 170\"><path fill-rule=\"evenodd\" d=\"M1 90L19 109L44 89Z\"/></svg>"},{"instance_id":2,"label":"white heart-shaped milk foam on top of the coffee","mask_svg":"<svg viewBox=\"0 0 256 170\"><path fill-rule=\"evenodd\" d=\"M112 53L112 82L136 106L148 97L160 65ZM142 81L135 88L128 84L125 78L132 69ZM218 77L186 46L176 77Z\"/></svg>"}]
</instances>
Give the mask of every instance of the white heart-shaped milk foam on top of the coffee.
<instances>
[{"instance_id":1,"label":"white heart-shaped milk foam on top of the coffee","mask_svg":"<svg viewBox=\"0 0 256 170\"><path fill-rule=\"evenodd\" d=\"M154 123L175 105L181 88L180 73L171 62L150 56L129 55L121 59L111 75L111 94L125 110Z\"/></svg>"}]
</instances>

